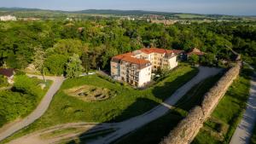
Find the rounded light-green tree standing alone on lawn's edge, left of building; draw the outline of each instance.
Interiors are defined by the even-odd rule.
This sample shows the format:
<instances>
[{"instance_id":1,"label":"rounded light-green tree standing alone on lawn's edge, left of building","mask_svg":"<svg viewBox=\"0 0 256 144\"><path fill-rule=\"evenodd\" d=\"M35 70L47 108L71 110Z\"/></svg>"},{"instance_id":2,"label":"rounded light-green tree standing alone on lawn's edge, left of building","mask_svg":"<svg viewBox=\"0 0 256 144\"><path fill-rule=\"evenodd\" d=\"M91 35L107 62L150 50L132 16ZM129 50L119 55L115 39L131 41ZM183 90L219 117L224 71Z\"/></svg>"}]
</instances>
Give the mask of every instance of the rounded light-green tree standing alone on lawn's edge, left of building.
<instances>
[{"instance_id":1,"label":"rounded light-green tree standing alone on lawn's edge, left of building","mask_svg":"<svg viewBox=\"0 0 256 144\"><path fill-rule=\"evenodd\" d=\"M79 55L73 54L67 62L67 78L78 78L84 71Z\"/></svg>"}]
</instances>

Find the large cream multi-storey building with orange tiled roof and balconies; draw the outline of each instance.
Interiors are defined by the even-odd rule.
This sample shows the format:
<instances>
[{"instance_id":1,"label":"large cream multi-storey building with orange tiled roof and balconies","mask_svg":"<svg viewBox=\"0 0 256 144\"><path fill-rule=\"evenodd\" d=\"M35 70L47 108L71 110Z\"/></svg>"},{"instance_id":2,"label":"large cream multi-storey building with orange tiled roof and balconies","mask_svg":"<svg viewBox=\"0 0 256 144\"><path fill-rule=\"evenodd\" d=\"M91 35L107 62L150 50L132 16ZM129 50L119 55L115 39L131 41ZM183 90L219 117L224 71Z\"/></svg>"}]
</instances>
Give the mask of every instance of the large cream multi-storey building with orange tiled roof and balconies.
<instances>
[{"instance_id":1,"label":"large cream multi-storey building with orange tiled roof and balconies","mask_svg":"<svg viewBox=\"0 0 256 144\"><path fill-rule=\"evenodd\" d=\"M177 51L144 48L114 56L111 60L111 76L136 87L150 83L152 72L160 68L172 69L177 66Z\"/></svg>"}]
</instances>

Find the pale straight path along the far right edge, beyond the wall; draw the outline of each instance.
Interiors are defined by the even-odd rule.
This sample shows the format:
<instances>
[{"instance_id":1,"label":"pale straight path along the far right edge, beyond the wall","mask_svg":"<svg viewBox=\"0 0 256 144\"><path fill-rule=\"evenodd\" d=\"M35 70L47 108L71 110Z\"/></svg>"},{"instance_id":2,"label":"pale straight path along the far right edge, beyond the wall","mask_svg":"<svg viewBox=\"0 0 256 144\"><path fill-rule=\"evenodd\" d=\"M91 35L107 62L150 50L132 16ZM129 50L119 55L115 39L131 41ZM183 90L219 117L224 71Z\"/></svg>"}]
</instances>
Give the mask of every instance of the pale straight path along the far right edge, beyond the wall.
<instances>
[{"instance_id":1,"label":"pale straight path along the far right edge, beyond the wall","mask_svg":"<svg viewBox=\"0 0 256 144\"><path fill-rule=\"evenodd\" d=\"M253 69L252 66L250 66ZM247 109L243 114L241 123L236 128L230 144L249 144L253 135L253 128L256 122L256 73L251 79L250 96L247 101Z\"/></svg>"}]
</instances>

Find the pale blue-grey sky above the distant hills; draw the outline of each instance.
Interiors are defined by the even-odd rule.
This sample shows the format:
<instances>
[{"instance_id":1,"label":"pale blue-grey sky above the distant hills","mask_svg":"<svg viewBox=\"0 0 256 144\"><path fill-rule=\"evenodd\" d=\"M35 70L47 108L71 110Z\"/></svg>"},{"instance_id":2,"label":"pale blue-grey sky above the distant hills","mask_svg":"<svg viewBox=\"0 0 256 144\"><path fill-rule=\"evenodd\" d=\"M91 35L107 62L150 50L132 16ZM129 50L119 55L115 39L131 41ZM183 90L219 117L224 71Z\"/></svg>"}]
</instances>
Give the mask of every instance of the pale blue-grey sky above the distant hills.
<instances>
[{"instance_id":1,"label":"pale blue-grey sky above the distant hills","mask_svg":"<svg viewBox=\"0 0 256 144\"><path fill-rule=\"evenodd\" d=\"M256 0L0 0L0 7L54 10L122 9L256 15Z\"/></svg>"}]
</instances>

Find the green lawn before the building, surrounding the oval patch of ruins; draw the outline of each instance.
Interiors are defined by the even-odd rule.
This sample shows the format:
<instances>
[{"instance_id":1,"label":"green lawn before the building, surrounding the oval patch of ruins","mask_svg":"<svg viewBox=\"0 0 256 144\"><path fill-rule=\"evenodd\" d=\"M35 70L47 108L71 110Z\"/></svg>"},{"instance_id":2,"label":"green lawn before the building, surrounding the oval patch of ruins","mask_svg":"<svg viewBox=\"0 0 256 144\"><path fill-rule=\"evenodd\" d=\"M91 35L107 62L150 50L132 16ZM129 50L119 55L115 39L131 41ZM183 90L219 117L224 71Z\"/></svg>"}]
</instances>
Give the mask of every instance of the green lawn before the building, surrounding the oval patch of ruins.
<instances>
[{"instance_id":1,"label":"green lawn before the building, surrounding the oval patch of ruins","mask_svg":"<svg viewBox=\"0 0 256 144\"><path fill-rule=\"evenodd\" d=\"M96 75L67 79L44 116L26 129L20 130L15 137L56 124L81 121L119 122L135 117L157 106L197 73L197 68L182 65L174 69L163 81L144 90L132 89L130 86L113 83L107 78ZM114 90L117 95L106 101L85 102L64 92L65 89L84 84Z\"/></svg>"}]
</instances>

